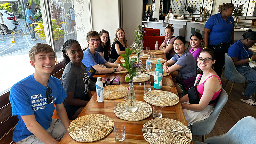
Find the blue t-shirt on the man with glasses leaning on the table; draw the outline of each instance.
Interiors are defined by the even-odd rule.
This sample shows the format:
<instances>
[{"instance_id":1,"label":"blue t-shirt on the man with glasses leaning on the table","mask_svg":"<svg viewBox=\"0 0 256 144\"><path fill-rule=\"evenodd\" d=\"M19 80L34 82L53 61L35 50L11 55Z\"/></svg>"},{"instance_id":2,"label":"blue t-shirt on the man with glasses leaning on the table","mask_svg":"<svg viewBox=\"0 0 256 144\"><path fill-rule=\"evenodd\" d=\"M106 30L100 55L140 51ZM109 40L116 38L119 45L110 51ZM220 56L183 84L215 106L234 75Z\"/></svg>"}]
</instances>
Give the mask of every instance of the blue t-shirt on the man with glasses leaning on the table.
<instances>
[{"instance_id":1,"label":"blue t-shirt on the man with glasses leaning on the table","mask_svg":"<svg viewBox=\"0 0 256 144\"><path fill-rule=\"evenodd\" d=\"M100 55L99 52L95 51L93 55L89 48L84 51L84 58L82 63L85 65L88 76L91 78L96 73L96 70L92 67L98 64L105 64L107 61Z\"/></svg>"}]
</instances>

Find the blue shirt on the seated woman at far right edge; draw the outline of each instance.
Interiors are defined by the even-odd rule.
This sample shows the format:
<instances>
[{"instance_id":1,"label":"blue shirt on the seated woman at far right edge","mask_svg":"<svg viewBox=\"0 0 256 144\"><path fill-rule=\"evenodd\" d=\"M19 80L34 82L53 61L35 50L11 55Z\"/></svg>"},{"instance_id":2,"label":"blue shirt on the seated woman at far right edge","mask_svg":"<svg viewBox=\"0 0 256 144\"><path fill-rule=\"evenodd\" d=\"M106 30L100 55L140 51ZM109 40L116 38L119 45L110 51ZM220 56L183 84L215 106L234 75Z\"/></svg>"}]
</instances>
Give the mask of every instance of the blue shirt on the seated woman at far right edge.
<instances>
[{"instance_id":1,"label":"blue shirt on the seated woman at far right edge","mask_svg":"<svg viewBox=\"0 0 256 144\"><path fill-rule=\"evenodd\" d=\"M245 47L239 40L229 47L228 54L230 57L237 57L238 60L245 60L247 58L252 57L253 52L249 50L247 47ZM249 57L248 57L248 54L249 54Z\"/></svg>"}]
</instances>

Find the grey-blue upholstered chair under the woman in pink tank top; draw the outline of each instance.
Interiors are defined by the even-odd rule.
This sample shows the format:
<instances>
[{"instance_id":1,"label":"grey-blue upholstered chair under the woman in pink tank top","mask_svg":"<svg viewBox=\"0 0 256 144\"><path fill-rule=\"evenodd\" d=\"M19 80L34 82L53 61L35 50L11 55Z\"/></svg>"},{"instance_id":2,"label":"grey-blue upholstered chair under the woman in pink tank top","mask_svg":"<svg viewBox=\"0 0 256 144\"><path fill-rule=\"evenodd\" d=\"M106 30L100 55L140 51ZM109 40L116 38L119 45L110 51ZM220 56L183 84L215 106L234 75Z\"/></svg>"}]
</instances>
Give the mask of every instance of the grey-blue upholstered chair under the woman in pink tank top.
<instances>
[{"instance_id":1,"label":"grey-blue upholstered chair under the woman in pink tank top","mask_svg":"<svg viewBox=\"0 0 256 144\"><path fill-rule=\"evenodd\" d=\"M193 125L189 126L193 135L202 135L202 141L205 140L205 135L209 134L215 125L216 120L219 117L219 114L228 100L228 95L223 88L219 95L219 100L216 102L213 109L213 113L205 120L200 120L195 122Z\"/></svg>"}]
</instances>

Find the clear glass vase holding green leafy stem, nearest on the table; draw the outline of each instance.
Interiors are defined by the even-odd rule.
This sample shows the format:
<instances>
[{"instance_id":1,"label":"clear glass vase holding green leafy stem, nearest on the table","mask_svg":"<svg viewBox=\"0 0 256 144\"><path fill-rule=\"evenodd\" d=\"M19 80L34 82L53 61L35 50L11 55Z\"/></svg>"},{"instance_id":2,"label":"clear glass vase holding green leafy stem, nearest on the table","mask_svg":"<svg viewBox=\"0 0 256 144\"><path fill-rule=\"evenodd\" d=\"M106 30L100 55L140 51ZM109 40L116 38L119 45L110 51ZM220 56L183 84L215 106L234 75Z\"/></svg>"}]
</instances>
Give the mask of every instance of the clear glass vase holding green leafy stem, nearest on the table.
<instances>
[{"instance_id":1,"label":"clear glass vase holding green leafy stem, nearest on the table","mask_svg":"<svg viewBox=\"0 0 256 144\"><path fill-rule=\"evenodd\" d=\"M137 110L137 104L136 104L132 80L129 81L129 92L128 92L128 97L126 102L126 110L128 112L135 112Z\"/></svg>"}]
</instances>

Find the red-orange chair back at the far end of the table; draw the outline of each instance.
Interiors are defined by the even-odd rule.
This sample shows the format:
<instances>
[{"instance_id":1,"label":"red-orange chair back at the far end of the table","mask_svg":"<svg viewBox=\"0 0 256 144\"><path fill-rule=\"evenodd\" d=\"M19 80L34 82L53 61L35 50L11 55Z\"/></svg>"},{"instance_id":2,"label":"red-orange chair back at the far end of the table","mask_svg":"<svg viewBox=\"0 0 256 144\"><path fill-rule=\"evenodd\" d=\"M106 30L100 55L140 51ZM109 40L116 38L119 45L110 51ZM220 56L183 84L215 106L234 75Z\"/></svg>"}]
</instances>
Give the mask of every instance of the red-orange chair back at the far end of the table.
<instances>
[{"instance_id":1,"label":"red-orange chair back at the far end of the table","mask_svg":"<svg viewBox=\"0 0 256 144\"><path fill-rule=\"evenodd\" d=\"M158 42L158 49L160 45L164 42L165 37L164 36L144 36L143 37L143 47L146 49L146 47L150 47L151 50L155 50L155 44L156 41Z\"/></svg>"}]
</instances>

